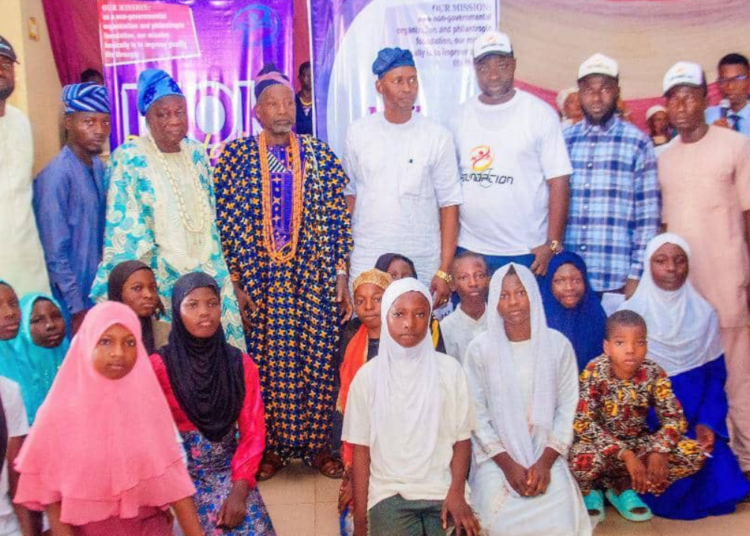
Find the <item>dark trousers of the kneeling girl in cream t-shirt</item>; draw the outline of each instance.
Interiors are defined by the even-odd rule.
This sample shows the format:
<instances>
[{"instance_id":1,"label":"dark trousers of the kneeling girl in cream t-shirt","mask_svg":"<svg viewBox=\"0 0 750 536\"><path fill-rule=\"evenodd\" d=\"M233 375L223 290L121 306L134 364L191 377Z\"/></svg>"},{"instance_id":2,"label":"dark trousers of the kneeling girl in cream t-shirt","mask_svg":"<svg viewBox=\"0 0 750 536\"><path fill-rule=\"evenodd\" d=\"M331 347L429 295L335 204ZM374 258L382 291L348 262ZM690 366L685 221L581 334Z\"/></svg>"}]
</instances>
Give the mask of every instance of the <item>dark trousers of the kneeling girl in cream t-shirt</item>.
<instances>
[{"instance_id":1,"label":"dark trousers of the kneeling girl in cream t-shirt","mask_svg":"<svg viewBox=\"0 0 750 536\"><path fill-rule=\"evenodd\" d=\"M369 536L445 536L440 521L442 501L408 501L394 495L367 513Z\"/></svg>"}]
</instances>

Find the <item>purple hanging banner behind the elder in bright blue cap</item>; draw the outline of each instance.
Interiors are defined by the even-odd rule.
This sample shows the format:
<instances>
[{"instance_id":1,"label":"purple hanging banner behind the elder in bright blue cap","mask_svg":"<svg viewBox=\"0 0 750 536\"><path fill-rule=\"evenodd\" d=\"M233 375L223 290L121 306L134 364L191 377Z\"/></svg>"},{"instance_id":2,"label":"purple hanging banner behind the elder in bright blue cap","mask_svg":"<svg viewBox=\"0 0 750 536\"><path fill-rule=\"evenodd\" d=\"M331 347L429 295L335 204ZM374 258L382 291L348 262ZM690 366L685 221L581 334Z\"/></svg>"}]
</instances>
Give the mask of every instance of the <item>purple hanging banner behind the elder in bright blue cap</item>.
<instances>
[{"instance_id":1,"label":"purple hanging banner behind the elder in bright blue cap","mask_svg":"<svg viewBox=\"0 0 750 536\"><path fill-rule=\"evenodd\" d=\"M216 159L225 142L259 130L252 80L268 62L292 73L292 35L288 0L99 0L112 148L146 132L136 84L141 71L157 68L185 94L188 136Z\"/></svg>"}]
</instances>

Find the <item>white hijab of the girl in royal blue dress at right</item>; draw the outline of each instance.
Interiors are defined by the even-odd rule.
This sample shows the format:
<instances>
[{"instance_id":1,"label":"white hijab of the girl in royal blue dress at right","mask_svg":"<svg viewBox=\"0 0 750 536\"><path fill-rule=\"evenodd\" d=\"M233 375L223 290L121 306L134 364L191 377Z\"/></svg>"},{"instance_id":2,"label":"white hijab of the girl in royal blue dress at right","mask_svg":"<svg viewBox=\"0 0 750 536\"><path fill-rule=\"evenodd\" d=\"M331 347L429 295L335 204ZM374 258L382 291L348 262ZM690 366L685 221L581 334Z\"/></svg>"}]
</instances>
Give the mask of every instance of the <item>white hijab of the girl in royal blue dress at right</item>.
<instances>
[{"instance_id":1,"label":"white hijab of the girl in royal blue dress at right","mask_svg":"<svg viewBox=\"0 0 750 536\"><path fill-rule=\"evenodd\" d=\"M640 314L648 326L648 357L669 376L676 376L720 357L719 319L711 305L685 281L678 290L656 286L651 257L664 244L679 246L690 259L690 246L674 233L651 239L644 255L644 270L633 297L620 306Z\"/></svg>"}]
</instances>

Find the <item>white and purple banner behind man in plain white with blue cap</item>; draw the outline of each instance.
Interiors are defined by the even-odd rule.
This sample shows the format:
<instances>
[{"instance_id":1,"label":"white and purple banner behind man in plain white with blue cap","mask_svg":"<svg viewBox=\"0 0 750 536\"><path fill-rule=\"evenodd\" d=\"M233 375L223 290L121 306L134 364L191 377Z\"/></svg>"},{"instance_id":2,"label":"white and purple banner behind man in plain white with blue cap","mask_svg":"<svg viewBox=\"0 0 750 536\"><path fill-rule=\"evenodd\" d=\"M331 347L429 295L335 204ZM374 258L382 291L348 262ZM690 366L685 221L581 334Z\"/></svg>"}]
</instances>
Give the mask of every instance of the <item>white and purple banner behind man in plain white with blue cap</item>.
<instances>
[{"instance_id":1,"label":"white and purple banner behind man in plain white with blue cap","mask_svg":"<svg viewBox=\"0 0 750 536\"><path fill-rule=\"evenodd\" d=\"M445 122L476 94L474 40L500 22L499 0L308 0L317 136L341 154L349 124L382 109L371 66L408 48L419 71L416 111Z\"/></svg>"}]
</instances>

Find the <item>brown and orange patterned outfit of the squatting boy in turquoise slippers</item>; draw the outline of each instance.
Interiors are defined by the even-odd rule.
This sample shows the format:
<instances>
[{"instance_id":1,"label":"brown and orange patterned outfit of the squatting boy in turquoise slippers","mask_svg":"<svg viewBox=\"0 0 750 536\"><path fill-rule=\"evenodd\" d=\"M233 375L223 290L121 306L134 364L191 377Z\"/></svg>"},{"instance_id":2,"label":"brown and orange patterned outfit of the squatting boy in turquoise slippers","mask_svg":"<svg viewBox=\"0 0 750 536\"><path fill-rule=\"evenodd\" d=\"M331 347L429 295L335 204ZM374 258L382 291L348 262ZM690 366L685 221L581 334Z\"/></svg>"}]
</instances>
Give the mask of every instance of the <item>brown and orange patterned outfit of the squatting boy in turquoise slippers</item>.
<instances>
[{"instance_id":1,"label":"brown and orange patterned outfit of the squatting boy in turquoise slippers","mask_svg":"<svg viewBox=\"0 0 750 536\"><path fill-rule=\"evenodd\" d=\"M646 422L650 409L660 424L653 433ZM570 469L583 493L597 483L612 487L627 475L619 457L625 450L638 457L669 454L669 483L696 473L706 458L698 444L685 437L687 421L667 373L648 359L630 380L615 376L607 356L591 361L581 373L573 429Z\"/></svg>"}]
</instances>

